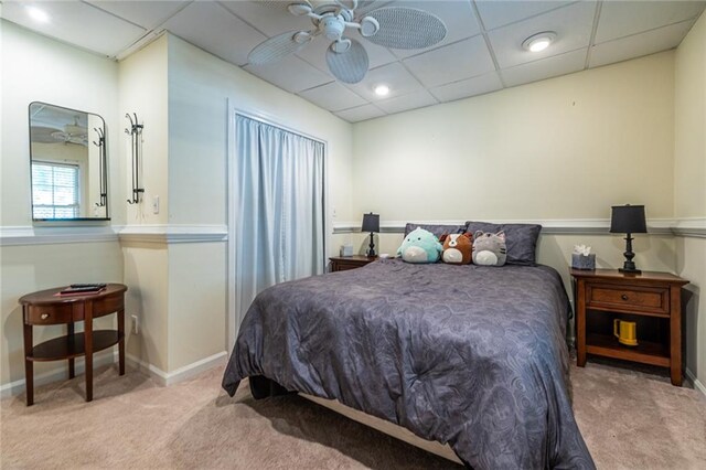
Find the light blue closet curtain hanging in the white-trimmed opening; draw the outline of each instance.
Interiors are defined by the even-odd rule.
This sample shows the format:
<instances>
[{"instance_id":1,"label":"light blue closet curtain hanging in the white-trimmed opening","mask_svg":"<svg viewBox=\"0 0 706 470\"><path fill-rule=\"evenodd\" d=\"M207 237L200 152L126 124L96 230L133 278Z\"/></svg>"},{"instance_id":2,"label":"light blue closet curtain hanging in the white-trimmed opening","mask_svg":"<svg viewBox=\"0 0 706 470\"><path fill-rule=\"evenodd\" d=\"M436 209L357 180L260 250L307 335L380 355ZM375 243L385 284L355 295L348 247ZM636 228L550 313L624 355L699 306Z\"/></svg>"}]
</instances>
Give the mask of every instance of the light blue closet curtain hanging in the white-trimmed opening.
<instances>
[{"instance_id":1,"label":"light blue closet curtain hanging in the white-trimmed opening","mask_svg":"<svg viewBox=\"0 0 706 470\"><path fill-rule=\"evenodd\" d=\"M324 145L236 115L236 321L263 289L323 274Z\"/></svg>"}]
</instances>

